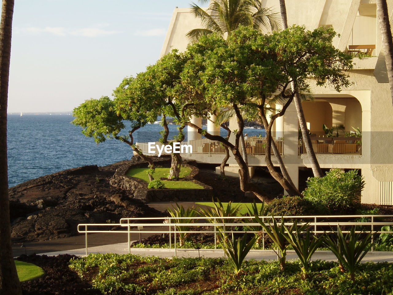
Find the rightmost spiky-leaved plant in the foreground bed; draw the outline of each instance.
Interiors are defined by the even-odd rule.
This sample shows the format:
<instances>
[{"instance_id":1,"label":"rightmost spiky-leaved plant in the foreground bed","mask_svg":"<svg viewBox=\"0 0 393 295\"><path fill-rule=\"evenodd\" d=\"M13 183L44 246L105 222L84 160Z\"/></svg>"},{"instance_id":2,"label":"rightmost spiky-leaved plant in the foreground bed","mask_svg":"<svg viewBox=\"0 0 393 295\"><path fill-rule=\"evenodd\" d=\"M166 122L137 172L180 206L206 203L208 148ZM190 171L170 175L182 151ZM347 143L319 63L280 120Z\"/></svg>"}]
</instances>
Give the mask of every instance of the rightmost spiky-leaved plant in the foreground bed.
<instances>
[{"instance_id":1,"label":"rightmost spiky-leaved plant in the foreground bed","mask_svg":"<svg viewBox=\"0 0 393 295\"><path fill-rule=\"evenodd\" d=\"M364 236L364 231L356 232L355 227L347 234L343 234L340 227L337 229L337 240L333 240L330 236L326 236L324 244L328 247L338 259L340 269L348 272L349 277L355 282L355 272L365 254L372 247L372 233L369 232ZM361 237L364 236L362 239Z\"/></svg>"}]
</instances>

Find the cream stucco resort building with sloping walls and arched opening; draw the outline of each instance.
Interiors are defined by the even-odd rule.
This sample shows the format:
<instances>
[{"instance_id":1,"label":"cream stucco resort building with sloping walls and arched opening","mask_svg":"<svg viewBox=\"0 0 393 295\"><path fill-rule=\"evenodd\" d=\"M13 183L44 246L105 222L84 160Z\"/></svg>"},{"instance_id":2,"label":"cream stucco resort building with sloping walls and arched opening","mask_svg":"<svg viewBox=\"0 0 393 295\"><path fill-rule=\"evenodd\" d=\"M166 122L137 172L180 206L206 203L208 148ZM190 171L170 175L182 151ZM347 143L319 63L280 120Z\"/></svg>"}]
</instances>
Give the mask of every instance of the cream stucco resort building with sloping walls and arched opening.
<instances>
[{"instance_id":1,"label":"cream stucco resort building with sloping walls and arched opening","mask_svg":"<svg viewBox=\"0 0 393 295\"><path fill-rule=\"evenodd\" d=\"M387 3L390 12L393 0ZM263 0L263 4L280 11L278 0ZM366 182L362 202L393 205L393 106L375 0L287 0L286 6L289 25L304 25L309 30L332 26L339 33L333 41L334 46L354 55L355 66L349 71L351 86L336 92L329 87L317 87L310 81L315 99L303 102L321 168L359 169ZM189 8L176 7L161 55L174 48L184 51L188 43L185 34L194 28L202 28L200 19L195 18ZM363 53L369 57L359 58ZM281 106L276 105L276 109ZM194 118L193 123L201 125L201 119ZM338 137L322 137L325 135L323 124L329 128L343 128L338 128ZM230 127L237 129L237 124L230 122ZM357 128L361 136L344 137L345 131L354 132ZM292 103L285 116L275 122L274 136L295 184L298 184L299 170L310 168L307 153L299 142L298 129L298 117ZM212 134L220 132L210 122L207 130ZM246 140L250 166L265 165L263 140L258 137ZM193 146L193 153L182 154L184 158L221 163L224 150L215 142L201 139L195 129L188 129L188 144ZM237 171L233 167L236 166L233 157L228 164L232 166L227 167L228 175Z\"/></svg>"}]
</instances>

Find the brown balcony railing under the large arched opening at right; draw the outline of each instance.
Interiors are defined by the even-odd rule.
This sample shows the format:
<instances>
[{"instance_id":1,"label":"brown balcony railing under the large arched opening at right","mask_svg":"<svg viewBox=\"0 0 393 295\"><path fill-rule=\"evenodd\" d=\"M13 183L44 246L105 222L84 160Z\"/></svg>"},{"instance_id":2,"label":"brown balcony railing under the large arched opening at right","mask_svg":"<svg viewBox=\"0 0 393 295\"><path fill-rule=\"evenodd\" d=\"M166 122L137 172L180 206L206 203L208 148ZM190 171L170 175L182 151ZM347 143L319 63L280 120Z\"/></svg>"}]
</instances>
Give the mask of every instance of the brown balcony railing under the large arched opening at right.
<instances>
[{"instance_id":1,"label":"brown balcony railing under the large arched opening at right","mask_svg":"<svg viewBox=\"0 0 393 295\"><path fill-rule=\"evenodd\" d=\"M311 137L316 154L361 155L361 137ZM304 144L299 145L299 155L307 153Z\"/></svg>"}]
</instances>

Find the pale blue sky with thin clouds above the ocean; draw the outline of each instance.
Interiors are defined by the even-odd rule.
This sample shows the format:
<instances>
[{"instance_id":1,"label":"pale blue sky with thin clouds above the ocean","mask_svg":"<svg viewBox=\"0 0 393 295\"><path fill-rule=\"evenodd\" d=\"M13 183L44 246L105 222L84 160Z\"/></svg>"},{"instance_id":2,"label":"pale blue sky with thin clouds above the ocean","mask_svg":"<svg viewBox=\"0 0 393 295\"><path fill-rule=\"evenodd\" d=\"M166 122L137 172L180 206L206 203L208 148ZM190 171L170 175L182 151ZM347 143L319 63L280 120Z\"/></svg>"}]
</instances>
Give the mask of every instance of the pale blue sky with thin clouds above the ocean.
<instances>
[{"instance_id":1,"label":"pale blue sky with thin clouds above the ocean","mask_svg":"<svg viewBox=\"0 0 393 295\"><path fill-rule=\"evenodd\" d=\"M174 8L191 2L16 0L8 112L68 112L112 96L157 61Z\"/></svg>"}]
</instances>

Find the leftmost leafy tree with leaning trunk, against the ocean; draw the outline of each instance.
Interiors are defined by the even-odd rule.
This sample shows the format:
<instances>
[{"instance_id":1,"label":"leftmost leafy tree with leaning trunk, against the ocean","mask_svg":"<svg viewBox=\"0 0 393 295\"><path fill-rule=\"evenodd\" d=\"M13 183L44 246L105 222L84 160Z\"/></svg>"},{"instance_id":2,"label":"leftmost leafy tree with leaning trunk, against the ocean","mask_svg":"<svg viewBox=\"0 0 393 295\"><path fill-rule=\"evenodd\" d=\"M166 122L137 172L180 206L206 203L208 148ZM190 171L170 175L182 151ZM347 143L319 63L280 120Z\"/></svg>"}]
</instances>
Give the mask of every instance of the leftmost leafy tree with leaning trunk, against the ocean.
<instances>
[{"instance_id":1,"label":"leftmost leafy tree with leaning trunk, against the ocean","mask_svg":"<svg viewBox=\"0 0 393 295\"><path fill-rule=\"evenodd\" d=\"M73 110L75 119L72 124L84 128L82 133L87 137L93 137L97 144L104 142L107 138L115 138L128 144L134 151L136 151L146 162L149 163L149 179L152 181L154 178L154 162L150 157L143 155L134 144L133 133L146 125L149 118L146 113L139 112L138 115L122 116L116 107L116 101L111 100L108 96L103 96L97 99L86 100ZM128 136L120 135L122 129L125 128L124 120L130 121L131 130ZM151 117L150 120L154 118Z\"/></svg>"}]
</instances>

